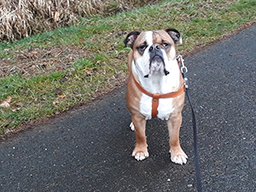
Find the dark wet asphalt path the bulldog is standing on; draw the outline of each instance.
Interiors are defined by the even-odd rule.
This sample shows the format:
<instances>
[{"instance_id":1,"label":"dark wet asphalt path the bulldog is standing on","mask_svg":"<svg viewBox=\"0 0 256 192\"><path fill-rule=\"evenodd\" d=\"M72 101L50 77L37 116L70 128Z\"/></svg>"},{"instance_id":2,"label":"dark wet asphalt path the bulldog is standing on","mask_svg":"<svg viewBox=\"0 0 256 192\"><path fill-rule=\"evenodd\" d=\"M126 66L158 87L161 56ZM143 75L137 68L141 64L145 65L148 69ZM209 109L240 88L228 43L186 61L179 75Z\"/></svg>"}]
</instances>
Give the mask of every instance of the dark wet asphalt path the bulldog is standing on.
<instances>
[{"instance_id":1,"label":"dark wet asphalt path the bulldog is standing on","mask_svg":"<svg viewBox=\"0 0 256 192\"><path fill-rule=\"evenodd\" d=\"M204 191L256 191L256 26L186 58ZM191 113L174 165L164 121L148 121L149 158L131 157L125 87L0 143L0 191L196 191Z\"/></svg>"}]
</instances>

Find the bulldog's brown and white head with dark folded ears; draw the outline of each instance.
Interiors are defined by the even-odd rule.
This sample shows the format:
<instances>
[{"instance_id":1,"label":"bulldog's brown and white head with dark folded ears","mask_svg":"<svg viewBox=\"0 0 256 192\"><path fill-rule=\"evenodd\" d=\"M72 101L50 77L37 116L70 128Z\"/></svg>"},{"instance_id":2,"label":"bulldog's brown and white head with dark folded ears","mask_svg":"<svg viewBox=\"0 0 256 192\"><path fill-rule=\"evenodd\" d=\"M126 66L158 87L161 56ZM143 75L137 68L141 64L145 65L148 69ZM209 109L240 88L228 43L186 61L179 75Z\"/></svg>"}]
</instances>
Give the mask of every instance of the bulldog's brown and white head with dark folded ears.
<instances>
[{"instance_id":1,"label":"bulldog's brown and white head with dark folded ears","mask_svg":"<svg viewBox=\"0 0 256 192\"><path fill-rule=\"evenodd\" d=\"M125 38L125 45L133 50L133 61L144 78L153 73L168 75L170 62L176 59L175 44L182 44L180 33L176 29L131 32Z\"/></svg>"}]
</instances>

